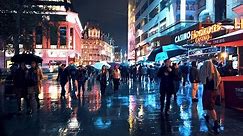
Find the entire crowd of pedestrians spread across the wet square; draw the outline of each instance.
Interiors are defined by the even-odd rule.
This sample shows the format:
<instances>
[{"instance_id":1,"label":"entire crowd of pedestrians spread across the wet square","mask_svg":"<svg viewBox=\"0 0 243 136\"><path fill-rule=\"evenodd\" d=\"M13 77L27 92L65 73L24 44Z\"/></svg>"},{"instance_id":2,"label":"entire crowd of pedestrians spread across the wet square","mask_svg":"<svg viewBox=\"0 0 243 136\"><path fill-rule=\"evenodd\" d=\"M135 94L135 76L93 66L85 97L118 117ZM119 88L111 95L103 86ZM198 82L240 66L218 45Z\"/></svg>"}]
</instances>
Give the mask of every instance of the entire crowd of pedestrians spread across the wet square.
<instances>
[{"instance_id":1,"label":"entire crowd of pedestrians spread across the wet square","mask_svg":"<svg viewBox=\"0 0 243 136\"><path fill-rule=\"evenodd\" d=\"M27 68L25 63L21 63L13 72L14 87L17 96L18 111L21 112L21 98L26 101L27 113L36 112L40 108L39 93L41 90L41 81L43 73L38 64L33 61L31 68ZM118 92L121 82L150 81L156 83L160 81L160 103L161 113L169 115L171 98L177 99L177 92L187 85L191 85L192 102L198 102L199 84L203 84L203 109L205 110L205 120L209 122L210 118L214 121L213 130L219 131L219 122L215 111L215 102L219 91L222 89L221 76L236 75L232 68L232 63L227 63L225 67L217 63L214 58L204 61L201 67L198 67L197 61L172 63L166 59L160 66L156 65L133 65L122 66L115 65L112 68L102 66L97 71L91 67L82 65L76 66L71 62L68 66L61 64L58 68L57 81L61 85L61 99L66 97L66 88L72 99L84 97L86 91L86 81L91 77L100 84L101 96L106 95L107 85L112 84L114 93ZM68 87L66 87L68 85ZM87 87L89 89L89 85ZM224 98L222 96L221 98Z\"/></svg>"}]
</instances>

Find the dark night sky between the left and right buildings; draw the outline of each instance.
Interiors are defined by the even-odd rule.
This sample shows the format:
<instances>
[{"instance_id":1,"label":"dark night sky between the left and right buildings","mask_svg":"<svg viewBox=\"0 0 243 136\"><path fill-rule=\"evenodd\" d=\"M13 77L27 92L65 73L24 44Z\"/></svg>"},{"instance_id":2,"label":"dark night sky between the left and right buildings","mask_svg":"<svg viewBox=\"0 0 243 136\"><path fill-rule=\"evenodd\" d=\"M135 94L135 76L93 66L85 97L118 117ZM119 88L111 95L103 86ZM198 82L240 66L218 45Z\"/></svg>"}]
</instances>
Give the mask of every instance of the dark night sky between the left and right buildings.
<instances>
[{"instance_id":1,"label":"dark night sky between the left and right buildings","mask_svg":"<svg viewBox=\"0 0 243 136\"><path fill-rule=\"evenodd\" d=\"M102 31L111 34L116 45L127 50L128 0L73 0L72 3L83 27L87 21L97 22Z\"/></svg>"}]
</instances>

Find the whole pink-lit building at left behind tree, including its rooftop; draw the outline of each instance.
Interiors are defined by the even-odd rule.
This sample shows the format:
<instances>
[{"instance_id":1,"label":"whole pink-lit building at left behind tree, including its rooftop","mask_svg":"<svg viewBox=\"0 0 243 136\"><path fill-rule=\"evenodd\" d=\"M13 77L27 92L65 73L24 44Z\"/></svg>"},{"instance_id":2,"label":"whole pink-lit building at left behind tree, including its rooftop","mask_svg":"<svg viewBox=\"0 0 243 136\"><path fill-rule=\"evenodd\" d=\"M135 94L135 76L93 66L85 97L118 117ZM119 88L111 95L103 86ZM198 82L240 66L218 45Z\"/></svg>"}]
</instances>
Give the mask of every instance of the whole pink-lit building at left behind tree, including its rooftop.
<instances>
[{"instance_id":1,"label":"whole pink-lit building at left behind tree, including its rooftop","mask_svg":"<svg viewBox=\"0 0 243 136\"><path fill-rule=\"evenodd\" d=\"M32 35L34 53L43 58L42 66L52 69L60 63L69 64L74 61L79 64L83 28L78 14L72 11L71 1L39 0L33 4L48 7L48 10L41 14L46 24L41 22L29 32ZM19 48L20 53L26 51L22 43ZM13 55L13 52L5 52L6 67L11 66L10 58Z\"/></svg>"}]
</instances>

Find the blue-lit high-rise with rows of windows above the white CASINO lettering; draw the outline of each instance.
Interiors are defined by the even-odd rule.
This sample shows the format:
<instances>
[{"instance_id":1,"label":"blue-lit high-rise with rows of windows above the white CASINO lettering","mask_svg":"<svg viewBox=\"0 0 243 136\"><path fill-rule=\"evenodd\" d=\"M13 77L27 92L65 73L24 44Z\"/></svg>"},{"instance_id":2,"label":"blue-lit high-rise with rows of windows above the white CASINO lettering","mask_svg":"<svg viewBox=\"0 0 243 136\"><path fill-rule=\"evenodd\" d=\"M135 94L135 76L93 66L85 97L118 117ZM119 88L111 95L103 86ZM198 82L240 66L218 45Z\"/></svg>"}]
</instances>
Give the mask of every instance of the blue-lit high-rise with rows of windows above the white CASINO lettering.
<instances>
[{"instance_id":1,"label":"blue-lit high-rise with rows of windows above the white CASINO lettering","mask_svg":"<svg viewBox=\"0 0 243 136\"><path fill-rule=\"evenodd\" d=\"M138 60L156 46L166 44L168 34L196 24L197 0L137 0L135 8L135 51Z\"/></svg>"}]
</instances>

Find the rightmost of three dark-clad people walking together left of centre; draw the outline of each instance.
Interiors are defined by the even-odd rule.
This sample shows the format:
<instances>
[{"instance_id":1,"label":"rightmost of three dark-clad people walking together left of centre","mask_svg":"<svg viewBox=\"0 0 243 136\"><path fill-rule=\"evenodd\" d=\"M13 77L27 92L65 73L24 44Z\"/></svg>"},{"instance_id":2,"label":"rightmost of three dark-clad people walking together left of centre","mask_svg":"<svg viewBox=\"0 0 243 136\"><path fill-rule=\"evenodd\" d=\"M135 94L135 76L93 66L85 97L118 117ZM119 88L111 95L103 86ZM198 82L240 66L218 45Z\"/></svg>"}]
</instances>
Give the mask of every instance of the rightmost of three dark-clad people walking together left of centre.
<instances>
[{"instance_id":1,"label":"rightmost of three dark-clad people walking together left of centre","mask_svg":"<svg viewBox=\"0 0 243 136\"><path fill-rule=\"evenodd\" d=\"M80 65L78 66L78 97L80 97L80 92L81 92L81 88L82 88L82 96L84 96L84 92L85 92L85 83L88 79L88 73L86 71L86 69Z\"/></svg>"}]
</instances>

